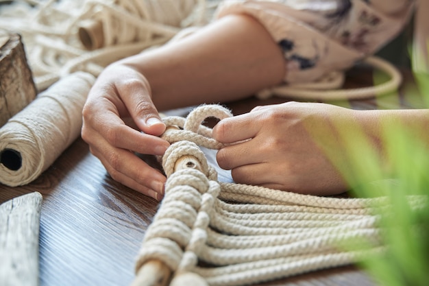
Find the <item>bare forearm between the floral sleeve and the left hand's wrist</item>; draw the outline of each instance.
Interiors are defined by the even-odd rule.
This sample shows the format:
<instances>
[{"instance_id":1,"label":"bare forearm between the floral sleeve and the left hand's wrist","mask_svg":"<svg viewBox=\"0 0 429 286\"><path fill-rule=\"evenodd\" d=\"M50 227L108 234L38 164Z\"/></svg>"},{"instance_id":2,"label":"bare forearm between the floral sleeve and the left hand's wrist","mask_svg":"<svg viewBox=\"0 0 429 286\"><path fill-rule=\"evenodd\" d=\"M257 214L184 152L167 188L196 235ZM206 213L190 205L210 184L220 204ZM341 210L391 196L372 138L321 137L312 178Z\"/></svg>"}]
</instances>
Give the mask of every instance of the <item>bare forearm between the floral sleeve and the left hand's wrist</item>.
<instances>
[{"instance_id":1,"label":"bare forearm between the floral sleeve and the left hand's wrist","mask_svg":"<svg viewBox=\"0 0 429 286\"><path fill-rule=\"evenodd\" d=\"M159 110L227 102L279 84L282 53L260 23L226 16L199 32L121 61L147 78Z\"/></svg>"}]
</instances>

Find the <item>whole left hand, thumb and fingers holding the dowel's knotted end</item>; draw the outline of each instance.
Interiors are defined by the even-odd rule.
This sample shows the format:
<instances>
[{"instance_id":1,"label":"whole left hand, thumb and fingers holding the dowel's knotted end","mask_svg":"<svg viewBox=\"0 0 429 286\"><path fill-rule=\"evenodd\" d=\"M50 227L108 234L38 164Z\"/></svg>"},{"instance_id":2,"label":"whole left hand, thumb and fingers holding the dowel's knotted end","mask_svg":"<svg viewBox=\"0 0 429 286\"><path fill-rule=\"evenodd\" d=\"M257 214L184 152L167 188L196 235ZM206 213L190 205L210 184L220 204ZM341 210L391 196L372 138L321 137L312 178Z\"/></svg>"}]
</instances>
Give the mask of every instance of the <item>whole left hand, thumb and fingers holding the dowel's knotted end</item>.
<instances>
[{"instance_id":1,"label":"whole left hand, thumb and fingers holding the dowel's knotted end","mask_svg":"<svg viewBox=\"0 0 429 286\"><path fill-rule=\"evenodd\" d=\"M127 119L131 119L129 123ZM111 64L88 94L83 121L82 139L110 176L160 200L165 176L135 154L163 155L169 147L158 137L165 125L151 100L145 77L125 64Z\"/></svg>"}]
</instances>

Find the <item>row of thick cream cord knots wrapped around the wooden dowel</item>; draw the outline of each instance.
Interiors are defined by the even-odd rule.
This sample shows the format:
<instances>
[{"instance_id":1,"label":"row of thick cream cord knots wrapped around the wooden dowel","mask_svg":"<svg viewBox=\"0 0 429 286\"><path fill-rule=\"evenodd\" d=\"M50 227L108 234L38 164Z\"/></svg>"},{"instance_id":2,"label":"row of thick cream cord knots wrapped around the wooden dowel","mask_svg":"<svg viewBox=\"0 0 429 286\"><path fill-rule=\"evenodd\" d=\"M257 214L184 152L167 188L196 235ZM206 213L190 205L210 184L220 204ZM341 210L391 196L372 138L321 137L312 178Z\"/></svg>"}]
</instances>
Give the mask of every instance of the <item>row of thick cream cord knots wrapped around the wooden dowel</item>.
<instances>
[{"instance_id":1,"label":"row of thick cream cord knots wrapped around the wooden dowel","mask_svg":"<svg viewBox=\"0 0 429 286\"><path fill-rule=\"evenodd\" d=\"M173 271L189 272L204 250L207 228L221 187L215 171L193 142L173 143L163 157L167 174L165 197L147 229L136 270L160 259Z\"/></svg>"}]
</instances>

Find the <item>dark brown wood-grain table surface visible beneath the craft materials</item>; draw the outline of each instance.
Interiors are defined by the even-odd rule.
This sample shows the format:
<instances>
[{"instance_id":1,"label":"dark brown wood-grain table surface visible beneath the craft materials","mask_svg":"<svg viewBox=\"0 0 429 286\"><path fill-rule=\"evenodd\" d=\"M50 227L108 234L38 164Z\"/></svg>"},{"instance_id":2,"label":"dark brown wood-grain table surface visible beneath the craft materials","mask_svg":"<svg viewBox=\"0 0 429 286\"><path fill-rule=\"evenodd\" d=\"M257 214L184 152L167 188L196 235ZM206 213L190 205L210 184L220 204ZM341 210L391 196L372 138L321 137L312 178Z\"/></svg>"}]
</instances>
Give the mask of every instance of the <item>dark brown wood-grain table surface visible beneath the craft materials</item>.
<instances>
[{"instance_id":1,"label":"dark brown wood-grain table surface visible beneath the craft materials","mask_svg":"<svg viewBox=\"0 0 429 286\"><path fill-rule=\"evenodd\" d=\"M407 83L411 75L404 71ZM347 87L371 84L368 69L347 75ZM412 89L412 88L411 88ZM413 108L421 99L408 84L398 94L356 101L332 102L348 108ZM234 114L256 105L290 99L249 98L228 104ZM37 180L23 187L0 184L0 203L39 191L43 195L40 218L40 285L130 285L134 261L158 202L128 189L108 176L103 165L77 139ZM262 284L261 284L262 285ZM354 265L293 276L263 285L373 285ZM191 286L191 285L190 285Z\"/></svg>"}]
</instances>

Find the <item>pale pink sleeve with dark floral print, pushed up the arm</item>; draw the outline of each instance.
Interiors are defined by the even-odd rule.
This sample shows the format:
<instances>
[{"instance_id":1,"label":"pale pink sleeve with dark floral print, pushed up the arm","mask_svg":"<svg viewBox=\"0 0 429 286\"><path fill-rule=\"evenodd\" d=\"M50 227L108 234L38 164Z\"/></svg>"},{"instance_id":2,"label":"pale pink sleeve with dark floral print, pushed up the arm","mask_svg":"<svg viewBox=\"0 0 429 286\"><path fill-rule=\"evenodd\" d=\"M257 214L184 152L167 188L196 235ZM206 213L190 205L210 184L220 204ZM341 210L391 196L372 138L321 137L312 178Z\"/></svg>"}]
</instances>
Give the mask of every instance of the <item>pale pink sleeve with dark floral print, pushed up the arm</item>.
<instances>
[{"instance_id":1,"label":"pale pink sleeve with dark floral print, pushed up the arm","mask_svg":"<svg viewBox=\"0 0 429 286\"><path fill-rule=\"evenodd\" d=\"M284 52L285 82L315 81L352 67L396 36L413 0L225 0L216 16L249 14Z\"/></svg>"}]
</instances>

